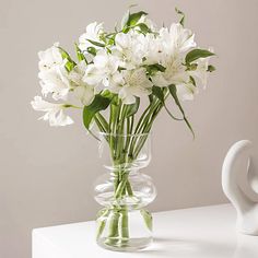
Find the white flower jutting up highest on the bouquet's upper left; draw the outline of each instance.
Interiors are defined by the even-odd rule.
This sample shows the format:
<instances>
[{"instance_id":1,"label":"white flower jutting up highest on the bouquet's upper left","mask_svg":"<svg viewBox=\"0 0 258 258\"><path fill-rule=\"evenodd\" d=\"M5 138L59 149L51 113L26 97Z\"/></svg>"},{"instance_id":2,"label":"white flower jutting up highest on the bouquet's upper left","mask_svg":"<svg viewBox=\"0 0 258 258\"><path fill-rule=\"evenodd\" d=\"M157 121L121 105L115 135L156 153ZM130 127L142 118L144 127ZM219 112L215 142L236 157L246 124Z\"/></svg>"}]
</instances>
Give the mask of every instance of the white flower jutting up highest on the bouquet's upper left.
<instances>
[{"instance_id":1,"label":"white flower jutting up highest on the bouquet's upper left","mask_svg":"<svg viewBox=\"0 0 258 258\"><path fill-rule=\"evenodd\" d=\"M79 37L79 48L82 51L86 51L92 44L87 40L99 42L99 35L103 34L103 23L97 22L91 23L86 26L86 32ZM98 48L97 46L94 46Z\"/></svg>"}]
</instances>

